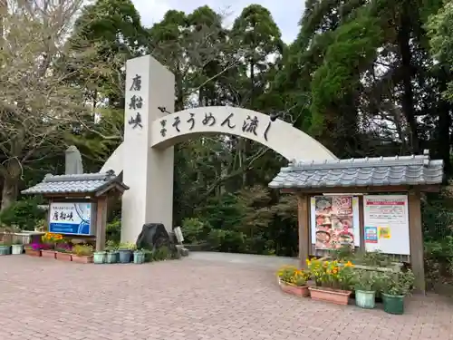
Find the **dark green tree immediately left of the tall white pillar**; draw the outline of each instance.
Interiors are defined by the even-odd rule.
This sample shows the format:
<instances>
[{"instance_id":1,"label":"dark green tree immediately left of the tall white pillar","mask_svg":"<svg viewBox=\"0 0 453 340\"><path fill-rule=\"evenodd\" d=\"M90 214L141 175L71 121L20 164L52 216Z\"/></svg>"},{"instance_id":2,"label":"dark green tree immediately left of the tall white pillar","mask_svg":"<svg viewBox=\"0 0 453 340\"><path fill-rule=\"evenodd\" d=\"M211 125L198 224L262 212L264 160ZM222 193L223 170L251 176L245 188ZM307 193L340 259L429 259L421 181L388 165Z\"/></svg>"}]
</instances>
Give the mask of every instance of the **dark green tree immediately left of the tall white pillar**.
<instances>
[{"instance_id":1,"label":"dark green tree immediately left of the tall white pillar","mask_svg":"<svg viewBox=\"0 0 453 340\"><path fill-rule=\"evenodd\" d=\"M71 82L85 87L85 100L96 112L96 119L94 115L87 117L81 133L72 135L72 142L89 160L89 170L98 170L122 141L124 64L143 53L148 39L130 0L98 0L83 7L77 17L69 39L71 50L77 53L96 46L96 53L85 61L85 67L68 70L73 74ZM109 64L109 73L99 64Z\"/></svg>"}]
</instances>

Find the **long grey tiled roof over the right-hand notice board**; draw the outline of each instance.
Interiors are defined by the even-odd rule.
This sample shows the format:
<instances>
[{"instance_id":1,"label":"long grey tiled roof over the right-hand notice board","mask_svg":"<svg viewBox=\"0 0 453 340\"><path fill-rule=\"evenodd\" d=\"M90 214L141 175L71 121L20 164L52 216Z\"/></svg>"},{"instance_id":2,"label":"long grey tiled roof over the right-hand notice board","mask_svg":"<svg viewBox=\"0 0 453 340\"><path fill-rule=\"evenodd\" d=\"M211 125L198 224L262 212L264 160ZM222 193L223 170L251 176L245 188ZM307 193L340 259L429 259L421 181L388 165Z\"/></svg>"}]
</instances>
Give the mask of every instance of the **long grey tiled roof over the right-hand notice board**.
<instances>
[{"instance_id":1,"label":"long grey tiled roof over the right-hand notice board","mask_svg":"<svg viewBox=\"0 0 453 340\"><path fill-rule=\"evenodd\" d=\"M311 189L439 184L443 160L420 156L376 157L350 160L293 161L282 168L270 188Z\"/></svg>"}]
</instances>

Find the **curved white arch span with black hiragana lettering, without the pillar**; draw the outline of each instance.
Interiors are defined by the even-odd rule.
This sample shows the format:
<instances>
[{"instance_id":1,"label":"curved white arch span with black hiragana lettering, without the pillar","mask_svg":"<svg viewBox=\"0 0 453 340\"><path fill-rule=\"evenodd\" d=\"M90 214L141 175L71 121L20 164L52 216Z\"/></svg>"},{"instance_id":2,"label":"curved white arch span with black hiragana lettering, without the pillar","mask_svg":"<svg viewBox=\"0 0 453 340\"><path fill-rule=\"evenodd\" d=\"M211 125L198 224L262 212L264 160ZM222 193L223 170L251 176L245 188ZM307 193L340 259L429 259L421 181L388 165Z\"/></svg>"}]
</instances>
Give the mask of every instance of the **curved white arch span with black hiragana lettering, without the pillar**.
<instances>
[{"instance_id":1,"label":"curved white arch span with black hiragana lettering, without the pillar","mask_svg":"<svg viewBox=\"0 0 453 340\"><path fill-rule=\"evenodd\" d=\"M150 146L168 148L194 136L213 133L258 141L287 160L335 160L323 144L282 121L252 110L208 106L171 113L151 123Z\"/></svg>"}]
</instances>

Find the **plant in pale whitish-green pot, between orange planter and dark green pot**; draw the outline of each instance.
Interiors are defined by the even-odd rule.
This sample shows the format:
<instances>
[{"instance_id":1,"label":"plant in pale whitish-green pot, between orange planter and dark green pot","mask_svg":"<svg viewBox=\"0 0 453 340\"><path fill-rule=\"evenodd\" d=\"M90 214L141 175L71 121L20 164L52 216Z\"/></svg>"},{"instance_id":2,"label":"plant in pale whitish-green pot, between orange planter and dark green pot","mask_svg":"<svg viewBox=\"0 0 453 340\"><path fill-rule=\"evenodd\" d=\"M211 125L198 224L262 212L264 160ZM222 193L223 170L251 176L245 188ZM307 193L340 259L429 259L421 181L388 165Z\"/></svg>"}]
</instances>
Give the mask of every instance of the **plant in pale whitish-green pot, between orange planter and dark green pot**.
<instances>
[{"instance_id":1,"label":"plant in pale whitish-green pot, between orange planter and dark green pot","mask_svg":"<svg viewBox=\"0 0 453 340\"><path fill-rule=\"evenodd\" d=\"M371 270L357 271L354 277L355 305L372 309L375 306L378 272Z\"/></svg>"}]
</instances>

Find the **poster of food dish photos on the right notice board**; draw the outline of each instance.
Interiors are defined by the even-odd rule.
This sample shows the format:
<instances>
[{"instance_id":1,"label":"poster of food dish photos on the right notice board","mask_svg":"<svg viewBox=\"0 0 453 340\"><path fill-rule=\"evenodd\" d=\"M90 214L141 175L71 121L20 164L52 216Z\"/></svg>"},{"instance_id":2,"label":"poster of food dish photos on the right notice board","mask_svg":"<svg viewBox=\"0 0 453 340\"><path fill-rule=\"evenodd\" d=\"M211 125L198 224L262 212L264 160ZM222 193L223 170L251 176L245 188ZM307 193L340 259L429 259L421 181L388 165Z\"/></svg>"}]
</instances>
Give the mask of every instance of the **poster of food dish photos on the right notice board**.
<instances>
[{"instance_id":1,"label":"poster of food dish photos on the right notice board","mask_svg":"<svg viewBox=\"0 0 453 340\"><path fill-rule=\"evenodd\" d=\"M359 246L359 201L353 196L311 199L312 243L316 249Z\"/></svg>"}]
</instances>

